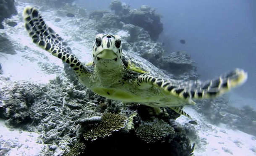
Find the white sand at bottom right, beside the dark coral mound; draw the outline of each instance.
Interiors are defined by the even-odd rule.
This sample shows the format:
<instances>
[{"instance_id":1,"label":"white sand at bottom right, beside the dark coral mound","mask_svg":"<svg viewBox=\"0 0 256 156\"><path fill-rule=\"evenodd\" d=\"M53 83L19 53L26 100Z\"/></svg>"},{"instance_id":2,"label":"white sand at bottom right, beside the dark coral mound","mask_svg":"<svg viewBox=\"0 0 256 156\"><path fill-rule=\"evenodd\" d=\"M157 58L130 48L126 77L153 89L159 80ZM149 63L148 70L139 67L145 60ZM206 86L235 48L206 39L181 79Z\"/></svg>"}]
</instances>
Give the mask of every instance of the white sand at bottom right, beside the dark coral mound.
<instances>
[{"instance_id":1,"label":"white sand at bottom right, beside the dark coral mound","mask_svg":"<svg viewBox=\"0 0 256 156\"><path fill-rule=\"evenodd\" d=\"M231 130L225 124L214 126L207 123L193 106L186 106L184 111L194 118L198 125L196 131L200 142L196 143L195 156L256 156L256 137L238 130ZM180 116L176 121L182 125L188 123L188 118ZM191 144L196 141L191 140Z\"/></svg>"}]
</instances>

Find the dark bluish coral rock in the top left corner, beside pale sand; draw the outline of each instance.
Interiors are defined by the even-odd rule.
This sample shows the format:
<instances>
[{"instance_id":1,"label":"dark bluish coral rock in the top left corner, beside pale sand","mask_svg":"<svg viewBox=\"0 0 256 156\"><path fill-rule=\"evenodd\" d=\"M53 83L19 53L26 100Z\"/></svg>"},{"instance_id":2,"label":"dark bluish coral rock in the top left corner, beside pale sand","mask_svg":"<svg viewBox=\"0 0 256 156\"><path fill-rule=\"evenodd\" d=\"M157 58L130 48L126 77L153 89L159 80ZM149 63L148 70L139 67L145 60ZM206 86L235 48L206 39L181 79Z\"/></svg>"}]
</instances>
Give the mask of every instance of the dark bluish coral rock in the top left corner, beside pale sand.
<instances>
[{"instance_id":1,"label":"dark bluish coral rock in the top left corner, beside pale sand","mask_svg":"<svg viewBox=\"0 0 256 156\"><path fill-rule=\"evenodd\" d=\"M0 29L4 28L2 25L3 20L10 18L11 15L17 15L14 0L0 0Z\"/></svg>"}]
</instances>

